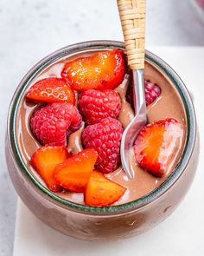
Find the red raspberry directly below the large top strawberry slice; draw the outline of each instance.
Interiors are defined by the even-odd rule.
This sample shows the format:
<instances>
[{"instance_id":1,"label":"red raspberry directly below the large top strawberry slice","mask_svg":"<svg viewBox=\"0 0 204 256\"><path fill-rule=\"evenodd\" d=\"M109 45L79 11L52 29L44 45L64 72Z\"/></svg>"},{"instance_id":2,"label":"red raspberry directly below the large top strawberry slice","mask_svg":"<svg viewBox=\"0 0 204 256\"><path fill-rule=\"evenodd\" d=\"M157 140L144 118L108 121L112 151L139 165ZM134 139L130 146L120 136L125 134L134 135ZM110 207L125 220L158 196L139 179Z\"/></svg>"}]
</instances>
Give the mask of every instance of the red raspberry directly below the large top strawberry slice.
<instances>
[{"instance_id":1,"label":"red raspberry directly below the large top strawberry slice","mask_svg":"<svg viewBox=\"0 0 204 256\"><path fill-rule=\"evenodd\" d=\"M78 107L87 124L94 124L106 117L117 118L121 99L112 89L88 89L79 96Z\"/></svg>"}]
</instances>

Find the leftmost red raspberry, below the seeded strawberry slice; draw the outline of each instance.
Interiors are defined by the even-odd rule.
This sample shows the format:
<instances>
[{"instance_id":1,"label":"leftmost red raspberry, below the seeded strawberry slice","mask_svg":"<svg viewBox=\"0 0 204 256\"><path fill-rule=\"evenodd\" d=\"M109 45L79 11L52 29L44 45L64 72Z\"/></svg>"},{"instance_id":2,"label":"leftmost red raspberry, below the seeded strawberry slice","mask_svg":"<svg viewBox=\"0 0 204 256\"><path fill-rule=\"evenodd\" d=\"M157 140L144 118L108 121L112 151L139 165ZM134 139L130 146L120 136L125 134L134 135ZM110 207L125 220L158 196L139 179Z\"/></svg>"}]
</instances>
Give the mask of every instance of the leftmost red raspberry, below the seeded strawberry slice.
<instances>
[{"instance_id":1,"label":"leftmost red raspberry, below the seeded strawberry slice","mask_svg":"<svg viewBox=\"0 0 204 256\"><path fill-rule=\"evenodd\" d=\"M67 135L80 128L81 116L71 103L54 102L40 108L30 119L30 128L42 145L66 146Z\"/></svg>"}]
</instances>

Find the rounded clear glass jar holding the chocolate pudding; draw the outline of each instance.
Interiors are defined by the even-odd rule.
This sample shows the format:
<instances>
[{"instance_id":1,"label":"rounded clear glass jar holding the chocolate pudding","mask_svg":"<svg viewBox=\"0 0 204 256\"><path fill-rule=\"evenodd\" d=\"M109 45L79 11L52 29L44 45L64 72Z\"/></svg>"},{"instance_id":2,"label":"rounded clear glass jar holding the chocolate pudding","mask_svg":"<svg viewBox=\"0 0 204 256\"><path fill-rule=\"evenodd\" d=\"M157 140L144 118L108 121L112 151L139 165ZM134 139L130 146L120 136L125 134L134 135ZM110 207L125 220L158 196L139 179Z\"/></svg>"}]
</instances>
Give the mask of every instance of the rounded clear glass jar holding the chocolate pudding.
<instances>
[{"instance_id":1,"label":"rounded clear glass jar holding the chocolate pudding","mask_svg":"<svg viewBox=\"0 0 204 256\"><path fill-rule=\"evenodd\" d=\"M87 207L62 199L50 192L35 178L35 175L31 174L23 161L16 139L18 110L30 82L41 70L65 56L112 48L124 49L124 43L114 41L77 43L47 56L22 79L10 103L8 116L6 157L10 178L17 194L30 211L48 226L83 240L129 237L143 233L165 220L187 193L194 180L198 161L199 147L194 106L188 90L168 64L147 51L146 61L156 67L174 85L186 112L186 145L174 173L149 194L123 205L111 207Z\"/></svg>"}]
</instances>

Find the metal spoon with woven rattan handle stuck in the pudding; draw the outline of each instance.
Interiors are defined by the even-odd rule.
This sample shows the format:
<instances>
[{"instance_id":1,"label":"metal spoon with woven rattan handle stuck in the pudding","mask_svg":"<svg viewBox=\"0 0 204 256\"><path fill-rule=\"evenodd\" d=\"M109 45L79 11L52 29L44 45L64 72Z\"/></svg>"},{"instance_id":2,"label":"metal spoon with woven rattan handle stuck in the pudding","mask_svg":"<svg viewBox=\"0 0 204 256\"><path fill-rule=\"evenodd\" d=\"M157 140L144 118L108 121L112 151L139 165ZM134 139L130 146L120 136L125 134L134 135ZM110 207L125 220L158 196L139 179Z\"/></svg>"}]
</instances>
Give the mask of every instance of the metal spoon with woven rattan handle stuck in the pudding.
<instances>
[{"instance_id":1,"label":"metal spoon with woven rattan handle stuck in the pudding","mask_svg":"<svg viewBox=\"0 0 204 256\"><path fill-rule=\"evenodd\" d=\"M128 64L132 72L135 107L135 116L124 129L120 146L124 173L131 180L134 177L134 171L130 164L132 157L135 157L133 144L137 135L147 123L143 86L146 0L117 0L117 2L124 33L124 45L128 56Z\"/></svg>"}]
</instances>

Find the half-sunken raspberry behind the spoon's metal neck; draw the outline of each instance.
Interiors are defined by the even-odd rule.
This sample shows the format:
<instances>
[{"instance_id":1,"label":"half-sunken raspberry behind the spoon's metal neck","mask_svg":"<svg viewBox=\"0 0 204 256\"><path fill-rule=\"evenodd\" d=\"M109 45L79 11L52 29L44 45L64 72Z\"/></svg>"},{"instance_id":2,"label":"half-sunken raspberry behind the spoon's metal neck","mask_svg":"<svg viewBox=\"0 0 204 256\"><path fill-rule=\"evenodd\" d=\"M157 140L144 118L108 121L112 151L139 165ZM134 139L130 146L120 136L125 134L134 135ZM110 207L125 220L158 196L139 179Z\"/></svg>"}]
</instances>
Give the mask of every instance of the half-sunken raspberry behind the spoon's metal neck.
<instances>
[{"instance_id":1,"label":"half-sunken raspberry behind the spoon's metal neck","mask_svg":"<svg viewBox=\"0 0 204 256\"><path fill-rule=\"evenodd\" d=\"M144 82L144 90L145 90L145 100L146 105L150 105L152 102L156 100L156 98L161 94L161 89L152 82ZM131 103L133 106L133 93L132 86L129 86L127 91L127 101Z\"/></svg>"}]
</instances>

